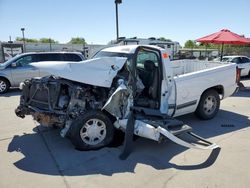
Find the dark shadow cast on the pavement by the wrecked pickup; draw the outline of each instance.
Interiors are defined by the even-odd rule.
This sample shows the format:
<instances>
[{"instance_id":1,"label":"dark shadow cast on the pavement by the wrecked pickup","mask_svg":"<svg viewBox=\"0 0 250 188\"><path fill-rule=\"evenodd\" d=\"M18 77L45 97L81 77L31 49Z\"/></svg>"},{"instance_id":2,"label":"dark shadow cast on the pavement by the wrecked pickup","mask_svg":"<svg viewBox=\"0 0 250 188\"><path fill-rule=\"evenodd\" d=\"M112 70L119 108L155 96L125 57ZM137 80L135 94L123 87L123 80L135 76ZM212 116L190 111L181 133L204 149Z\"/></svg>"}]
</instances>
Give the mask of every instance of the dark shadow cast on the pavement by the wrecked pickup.
<instances>
[{"instance_id":1,"label":"dark shadow cast on the pavement by the wrecked pickup","mask_svg":"<svg viewBox=\"0 0 250 188\"><path fill-rule=\"evenodd\" d=\"M192 125L196 134L208 139L250 126L247 116L224 110L221 110L218 116L210 121L198 120L193 115L182 116L180 119ZM224 124L231 126L222 126ZM128 159L121 161L118 157L121 153L121 146L97 151L77 151L68 139L59 136L59 130L40 126L38 130L32 134L14 136L8 146L8 152L17 151L24 155L21 160L14 163L17 168L39 174L111 176L115 173L133 173L137 164L148 165L157 170L168 168L196 170L211 166L220 153L220 149L214 150L204 162L199 164L177 165L171 163L171 159L186 151L187 148L168 140L158 144L139 138L134 142L134 150ZM207 151L200 152L208 153ZM52 170L52 165L54 168L57 167L56 171Z\"/></svg>"}]
</instances>

